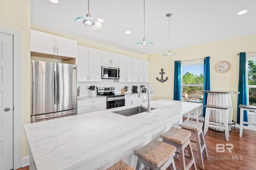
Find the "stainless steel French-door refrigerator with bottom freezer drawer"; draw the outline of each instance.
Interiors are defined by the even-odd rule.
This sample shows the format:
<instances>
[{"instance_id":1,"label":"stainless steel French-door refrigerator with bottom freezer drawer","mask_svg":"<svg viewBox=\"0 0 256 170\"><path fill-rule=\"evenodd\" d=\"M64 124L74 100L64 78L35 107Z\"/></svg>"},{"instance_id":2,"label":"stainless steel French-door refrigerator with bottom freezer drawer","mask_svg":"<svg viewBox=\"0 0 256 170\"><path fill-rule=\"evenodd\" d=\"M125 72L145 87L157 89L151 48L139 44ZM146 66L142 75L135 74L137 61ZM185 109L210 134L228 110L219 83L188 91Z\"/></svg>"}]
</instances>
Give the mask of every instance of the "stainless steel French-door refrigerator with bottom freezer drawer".
<instances>
[{"instance_id":1,"label":"stainless steel French-door refrigerator with bottom freezer drawer","mask_svg":"<svg viewBox=\"0 0 256 170\"><path fill-rule=\"evenodd\" d=\"M31 60L31 123L77 114L76 65Z\"/></svg>"}]
</instances>

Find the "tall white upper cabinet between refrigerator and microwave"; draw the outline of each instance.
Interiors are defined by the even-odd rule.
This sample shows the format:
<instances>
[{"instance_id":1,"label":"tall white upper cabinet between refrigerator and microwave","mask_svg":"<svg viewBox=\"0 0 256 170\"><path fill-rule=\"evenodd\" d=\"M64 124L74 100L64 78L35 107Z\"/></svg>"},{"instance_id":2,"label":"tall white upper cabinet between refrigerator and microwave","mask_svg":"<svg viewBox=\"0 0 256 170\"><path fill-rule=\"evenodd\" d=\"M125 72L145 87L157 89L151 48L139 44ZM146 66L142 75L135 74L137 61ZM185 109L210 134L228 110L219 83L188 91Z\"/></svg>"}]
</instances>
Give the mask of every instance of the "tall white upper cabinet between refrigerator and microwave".
<instances>
[{"instance_id":1,"label":"tall white upper cabinet between refrigerator and microwave","mask_svg":"<svg viewBox=\"0 0 256 170\"><path fill-rule=\"evenodd\" d=\"M78 45L76 58L78 82L101 82L101 51Z\"/></svg>"}]
</instances>

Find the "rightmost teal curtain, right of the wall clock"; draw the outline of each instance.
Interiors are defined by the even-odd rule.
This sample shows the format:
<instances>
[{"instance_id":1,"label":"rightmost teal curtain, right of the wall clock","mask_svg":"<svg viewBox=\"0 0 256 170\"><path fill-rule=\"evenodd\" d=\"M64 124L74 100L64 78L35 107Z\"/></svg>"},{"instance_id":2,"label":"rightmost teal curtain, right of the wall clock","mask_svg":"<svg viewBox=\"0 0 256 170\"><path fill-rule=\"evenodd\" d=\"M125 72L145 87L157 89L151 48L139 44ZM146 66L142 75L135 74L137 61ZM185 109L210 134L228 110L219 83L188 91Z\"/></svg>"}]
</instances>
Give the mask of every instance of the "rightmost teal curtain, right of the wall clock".
<instances>
[{"instance_id":1,"label":"rightmost teal curtain, right of the wall clock","mask_svg":"<svg viewBox=\"0 0 256 170\"><path fill-rule=\"evenodd\" d=\"M237 123L240 124L240 104L247 105L246 92L246 54L240 53L239 57L239 80L238 80L238 99L237 99ZM248 122L247 111L244 111L244 121ZM247 125L247 124L246 124ZM248 125L247 125L248 126Z\"/></svg>"}]
</instances>

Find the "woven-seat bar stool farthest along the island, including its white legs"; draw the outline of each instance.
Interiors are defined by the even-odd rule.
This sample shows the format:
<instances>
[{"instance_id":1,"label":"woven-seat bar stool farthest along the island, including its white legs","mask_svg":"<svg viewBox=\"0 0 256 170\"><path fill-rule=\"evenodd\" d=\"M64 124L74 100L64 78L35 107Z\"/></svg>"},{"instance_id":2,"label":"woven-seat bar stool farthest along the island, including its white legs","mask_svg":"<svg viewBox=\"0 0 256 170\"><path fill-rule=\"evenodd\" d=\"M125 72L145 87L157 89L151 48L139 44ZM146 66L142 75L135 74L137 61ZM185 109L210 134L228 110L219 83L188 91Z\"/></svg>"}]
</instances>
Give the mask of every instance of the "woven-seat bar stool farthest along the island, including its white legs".
<instances>
[{"instance_id":1,"label":"woven-seat bar stool farthest along the island, including its white legs","mask_svg":"<svg viewBox=\"0 0 256 170\"><path fill-rule=\"evenodd\" d=\"M194 141L190 138L190 142L196 143L197 149L193 149L193 150L196 150L198 152L200 168L204 169L202 153L204 152L204 157L206 157L206 158L208 157L208 153L206 150L204 135L203 135L203 131L202 131L203 123L185 120L183 123L179 124L179 126L182 127L182 129L186 129L186 130L190 131L192 134L194 134L196 136L196 141Z\"/></svg>"}]
</instances>

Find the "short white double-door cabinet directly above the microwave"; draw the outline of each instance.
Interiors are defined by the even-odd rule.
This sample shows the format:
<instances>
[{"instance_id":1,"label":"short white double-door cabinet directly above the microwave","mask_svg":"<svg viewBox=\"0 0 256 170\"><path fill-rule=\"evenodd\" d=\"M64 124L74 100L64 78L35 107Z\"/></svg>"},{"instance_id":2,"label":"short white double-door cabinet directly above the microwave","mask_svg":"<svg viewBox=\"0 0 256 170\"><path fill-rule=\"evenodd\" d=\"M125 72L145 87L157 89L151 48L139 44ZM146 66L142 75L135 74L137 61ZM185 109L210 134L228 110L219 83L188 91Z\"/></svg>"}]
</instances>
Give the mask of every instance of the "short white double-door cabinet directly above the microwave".
<instances>
[{"instance_id":1,"label":"short white double-door cabinet directly above the microwave","mask_svg":"<svg viewBox=\"0 0 256 170\"><path fill-rule=\"evenodd\" d=\"M111 66L119 66L119 55L107 51L101 51L101 63Z\"/></svg>"}]
</instances>

